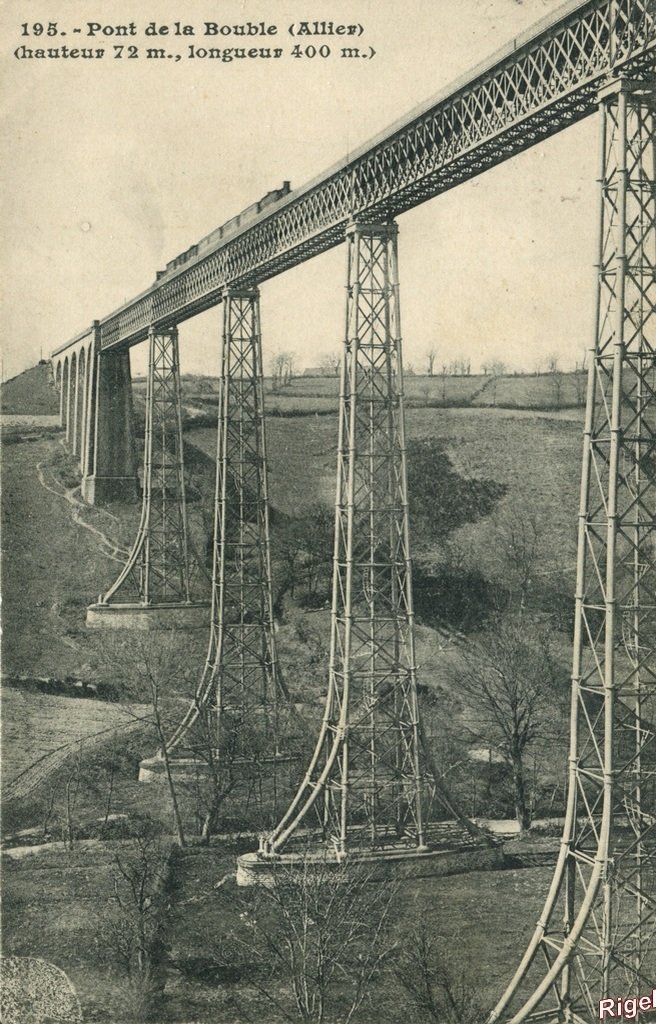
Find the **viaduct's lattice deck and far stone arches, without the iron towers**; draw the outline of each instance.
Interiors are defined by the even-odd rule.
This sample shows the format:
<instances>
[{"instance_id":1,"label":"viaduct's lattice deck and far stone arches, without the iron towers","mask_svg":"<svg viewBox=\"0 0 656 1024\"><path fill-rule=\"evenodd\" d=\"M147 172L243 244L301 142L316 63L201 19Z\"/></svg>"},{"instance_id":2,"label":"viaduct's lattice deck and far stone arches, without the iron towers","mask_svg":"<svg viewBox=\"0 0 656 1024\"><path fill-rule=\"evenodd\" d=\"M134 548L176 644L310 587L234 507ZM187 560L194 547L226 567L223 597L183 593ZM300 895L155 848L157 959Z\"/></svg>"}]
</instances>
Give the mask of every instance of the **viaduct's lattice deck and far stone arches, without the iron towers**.
<instances>
[{"instance_id":1,"label":"viaduct's lattice deck and far stone arches, without the iron towers","mask_svg":"<svg viewBox=\"0 0 656 1024\"><path fill-rule=\"evenodd\" d=\"M135 494L127 350L344 242L352 219L398 216L589 116L610 75L653 66L649 0L565 4L380 136L200 250L51 355L61 422L92 503Z\"/></svg>"}]
</instances>

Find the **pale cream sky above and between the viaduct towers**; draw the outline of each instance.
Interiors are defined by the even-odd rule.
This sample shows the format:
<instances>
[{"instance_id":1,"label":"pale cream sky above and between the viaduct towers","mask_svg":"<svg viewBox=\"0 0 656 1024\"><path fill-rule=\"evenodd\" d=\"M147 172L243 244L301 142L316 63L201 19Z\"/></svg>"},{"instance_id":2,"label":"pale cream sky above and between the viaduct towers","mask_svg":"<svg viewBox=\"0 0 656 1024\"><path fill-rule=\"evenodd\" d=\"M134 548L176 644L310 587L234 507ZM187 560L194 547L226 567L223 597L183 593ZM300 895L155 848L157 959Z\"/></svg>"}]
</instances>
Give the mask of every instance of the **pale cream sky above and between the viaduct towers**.
<instances>
[{"instance_id":1,"label":"pale cream sky above and between the viaduct towers","mask_svg":"<svg viewBox=\"0 0 656 1024\"><path fill-rule=\"evenodd\" d=\"M466 74L537 19L552 0L60 0L57 31L35 37L51 4L4 0L2 175L3 379L146 288L189 245L283 180L303 184ZM28 17L27 37L21 25ZM300 19L361 24L370 60L295 58ZM191 38L146 39L155 20ZM204 23L278 27L285 57L190 59ZM89 38L134 23L132 38ZM75 28L81 32L75 34ZM95 60L23 59L19 45L105 48ZM182 59L146 59L148 45ZM138 56L114 56L136 45ZM581 358L593 329L597 125L555 138L399 217L405 364L468 358L534 370ZM262 286L265 367L290 351L299 370L339 349L343 246ZM218 373L220 309L180 327L183 373ZM144 346L133 349L133 372Z\"/></svg>"}]
</instances>

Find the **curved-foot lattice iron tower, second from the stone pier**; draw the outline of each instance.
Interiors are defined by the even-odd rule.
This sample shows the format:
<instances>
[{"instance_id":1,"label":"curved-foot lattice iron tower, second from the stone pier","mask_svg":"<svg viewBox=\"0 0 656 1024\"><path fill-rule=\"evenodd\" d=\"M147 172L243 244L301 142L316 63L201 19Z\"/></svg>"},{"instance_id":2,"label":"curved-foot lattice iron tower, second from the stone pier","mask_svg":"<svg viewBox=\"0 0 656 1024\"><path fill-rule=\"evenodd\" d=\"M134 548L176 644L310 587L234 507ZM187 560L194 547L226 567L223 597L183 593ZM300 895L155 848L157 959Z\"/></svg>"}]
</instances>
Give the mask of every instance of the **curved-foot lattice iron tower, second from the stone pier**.
<instances>
[{"instance_id":1,"label":"curved-foot lattice iron tower, second from the stone pier","mask_svg":"<svg viewBox=\"0 0 656 1024\"><path fill-rule=\"evenodd\" d=\"M218 764L253 758L254 716L265 716L277 753L278 698L287 697L275 650L257 289L230 289L223 303L216 459L212 625L205 669L170 746L193 749L211 729ZM240 749L239 744L244 746Z\"/></svg>"}]
</instances>

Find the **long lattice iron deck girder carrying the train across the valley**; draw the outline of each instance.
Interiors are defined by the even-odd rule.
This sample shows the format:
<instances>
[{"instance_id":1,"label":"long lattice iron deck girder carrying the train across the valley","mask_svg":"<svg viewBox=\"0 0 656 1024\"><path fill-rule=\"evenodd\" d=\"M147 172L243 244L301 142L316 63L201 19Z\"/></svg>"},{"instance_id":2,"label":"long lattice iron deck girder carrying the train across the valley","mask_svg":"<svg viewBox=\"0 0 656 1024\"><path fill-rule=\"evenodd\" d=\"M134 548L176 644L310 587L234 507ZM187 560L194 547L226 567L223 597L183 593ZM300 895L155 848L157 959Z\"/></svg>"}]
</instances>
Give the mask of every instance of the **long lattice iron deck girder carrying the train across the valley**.
<instances>
[{"instance_id":1,"label":"long lattice iron deck girder carrying the train across the valley","mask_svg":"<svg viewBox=\"0 0 656 1024\"><path fill-rule=\"evenodd\" d=\"M508 160L592 114L609 76L652 73L655 52L653 0L570 5L269 215L104 317L102 348L135 344L151 324L179 324L220 302L228 284L258 284L339 245L355 217L396 217Z\"/></svg>"}]
</instances>

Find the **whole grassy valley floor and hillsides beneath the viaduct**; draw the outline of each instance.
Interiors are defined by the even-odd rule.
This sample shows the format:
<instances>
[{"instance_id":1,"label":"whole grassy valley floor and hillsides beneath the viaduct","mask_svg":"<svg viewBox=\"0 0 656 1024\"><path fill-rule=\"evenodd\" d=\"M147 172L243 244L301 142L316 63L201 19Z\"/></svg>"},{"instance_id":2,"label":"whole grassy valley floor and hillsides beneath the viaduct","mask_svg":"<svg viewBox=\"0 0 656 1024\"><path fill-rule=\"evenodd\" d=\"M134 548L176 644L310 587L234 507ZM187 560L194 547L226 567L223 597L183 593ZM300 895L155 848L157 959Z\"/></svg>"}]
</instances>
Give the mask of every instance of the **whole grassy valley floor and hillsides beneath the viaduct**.
<instances>
[{"instance_id":1,"label":"whole grassy valley floor and hillsides beneath the viaduct","mask_svg":"<svg viewBox=\"0 0 656 1024\"><path fill-rule=\"evenodd\" d=\"M266 393L273 585L278 655L299 716L291 735L305 763L326 683L338 392L335 377L286 374L280 365ZM536 818L562 813L564 796L580 402L576 375L557 385L555 374L455 375L435 362L432 376L406 380L425 731L457 806L516 819L529 836ZM142 385L135 390L139 413ZM189 519L207 594L216 382L185 379L184 400ZM239 775L235 746L221 779L207 750L203 778L177 788L137 781L140 760L162 750L188 706L206 631L87 631L86 606L120 569L139 510L84 506L58 437L11 436L3 740L6 762L13 752L16 761L3 829L18 853L6 858L4 951L62 967L88 1020L248 1024L266 1007L272 1024L393 1024L400 1004L412 1024L480 1020L525 945L550 868L405 882L402 899L355 885L332 905L316 878L238 893L235 853L253 849L273 814L265 739L253 729L243 740L257 779ZM280 800L295 773L293 763ZM380 924L374 944L357 927L344 932L345 919L363 916ZM303 949L294 945L299 921ZM455 965L454 947L471 963ZM317 980L303 956L316 964L319 952Z\"/></svg>"}]
</instances>

